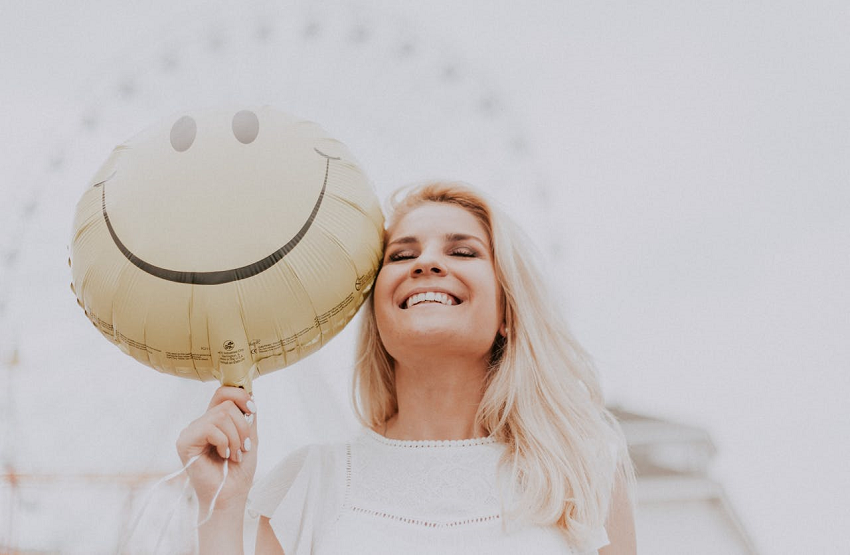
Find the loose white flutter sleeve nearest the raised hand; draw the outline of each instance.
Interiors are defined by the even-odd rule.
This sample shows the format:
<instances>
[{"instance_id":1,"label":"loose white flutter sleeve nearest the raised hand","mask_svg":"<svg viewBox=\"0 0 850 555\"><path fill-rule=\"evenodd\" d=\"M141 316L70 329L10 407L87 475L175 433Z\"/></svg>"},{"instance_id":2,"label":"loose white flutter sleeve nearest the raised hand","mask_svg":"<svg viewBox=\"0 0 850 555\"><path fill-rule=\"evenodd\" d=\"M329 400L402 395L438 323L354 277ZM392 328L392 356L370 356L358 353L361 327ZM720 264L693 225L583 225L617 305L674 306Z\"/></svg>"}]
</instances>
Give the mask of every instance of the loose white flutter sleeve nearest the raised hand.
<instances>
[{"instance_id":1,"label":"loose white flutter sleeve nearest the raised hand","mask_svg":"<svg viewBox=\"0 0 850 555\"><path fill-rule=\"evenodd\" d=\"M248 514L269 522L286 555L310 553L339 514L344 475L330 446L310 445L287 456L248 495Z\"/></svg>"}]
</instances>

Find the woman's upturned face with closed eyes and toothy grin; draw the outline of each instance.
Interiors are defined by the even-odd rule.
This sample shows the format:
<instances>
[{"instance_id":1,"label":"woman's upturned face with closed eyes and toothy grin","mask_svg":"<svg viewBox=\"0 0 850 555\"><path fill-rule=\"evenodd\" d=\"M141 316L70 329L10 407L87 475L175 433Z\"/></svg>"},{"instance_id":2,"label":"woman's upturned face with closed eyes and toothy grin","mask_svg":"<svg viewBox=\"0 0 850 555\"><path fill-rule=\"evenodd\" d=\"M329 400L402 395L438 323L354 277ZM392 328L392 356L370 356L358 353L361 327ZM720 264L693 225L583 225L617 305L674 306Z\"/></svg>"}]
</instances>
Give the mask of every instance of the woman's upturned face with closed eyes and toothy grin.
<instances>
[{"instance_id":1,"label":"woman's upturned face with closed eyes and toothy grin","mask_svg":"<svg viewBox=\"0 0 850 555\"><path fill-rule=\"evenodd\" d=\"M378 332L397 361L423 349L489 360L504 321L490 238L455 204L426 202L396 222L374 295Z\"/></svg>"}]
</instances>

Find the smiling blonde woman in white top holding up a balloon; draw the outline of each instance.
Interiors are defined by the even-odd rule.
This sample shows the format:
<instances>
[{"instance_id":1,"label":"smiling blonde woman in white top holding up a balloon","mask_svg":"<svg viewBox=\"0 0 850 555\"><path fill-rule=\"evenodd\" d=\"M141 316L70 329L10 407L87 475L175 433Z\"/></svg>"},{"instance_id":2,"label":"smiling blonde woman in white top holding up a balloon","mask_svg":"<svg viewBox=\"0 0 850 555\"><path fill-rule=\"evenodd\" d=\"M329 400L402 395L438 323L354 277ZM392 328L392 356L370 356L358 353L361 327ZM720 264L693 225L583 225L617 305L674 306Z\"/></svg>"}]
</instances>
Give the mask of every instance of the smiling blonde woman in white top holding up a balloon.
<instances>
[{"instance_id":1,"label":"smiling blonde woman in white top holding up a balloon","mask_svg":"<svg viewBox=\"0 0 850 555\"><path fill-rule=\"evenodd\" d=\"M363 433L295 452L251 490L256 407L220 388L178 440L207 514L202 553L636 552L633 471L596 375L529 244L480 194L394 202L355 368Z\"/></svg>"}]
</instances>

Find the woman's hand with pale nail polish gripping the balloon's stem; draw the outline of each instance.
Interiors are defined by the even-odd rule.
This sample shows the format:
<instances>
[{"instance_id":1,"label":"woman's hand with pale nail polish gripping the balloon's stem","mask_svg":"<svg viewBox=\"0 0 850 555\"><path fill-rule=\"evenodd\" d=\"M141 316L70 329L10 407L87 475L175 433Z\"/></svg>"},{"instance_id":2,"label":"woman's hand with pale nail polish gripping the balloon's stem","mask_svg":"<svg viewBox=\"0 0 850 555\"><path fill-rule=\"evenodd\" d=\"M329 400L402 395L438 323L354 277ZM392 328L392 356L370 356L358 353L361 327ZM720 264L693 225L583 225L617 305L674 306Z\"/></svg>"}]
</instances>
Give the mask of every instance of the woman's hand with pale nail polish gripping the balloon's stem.
<instances>
[{"instance_id":1,"label":"woman's hand with pale nail polish gripping the balloon's stem","mask_svg":"<svg viewBox=\"0 0 850 555\"><path fill-rule=\"evenodd\" d=\"M216 500L216 512L244 510L257 468L256 412L244 389L222 386L207 412L180 432L177 453L183 464L200 455L186 472L198 496L201 518L221 484L225 459L229 459L227 480Z\"/></svg>"}]
</instances>

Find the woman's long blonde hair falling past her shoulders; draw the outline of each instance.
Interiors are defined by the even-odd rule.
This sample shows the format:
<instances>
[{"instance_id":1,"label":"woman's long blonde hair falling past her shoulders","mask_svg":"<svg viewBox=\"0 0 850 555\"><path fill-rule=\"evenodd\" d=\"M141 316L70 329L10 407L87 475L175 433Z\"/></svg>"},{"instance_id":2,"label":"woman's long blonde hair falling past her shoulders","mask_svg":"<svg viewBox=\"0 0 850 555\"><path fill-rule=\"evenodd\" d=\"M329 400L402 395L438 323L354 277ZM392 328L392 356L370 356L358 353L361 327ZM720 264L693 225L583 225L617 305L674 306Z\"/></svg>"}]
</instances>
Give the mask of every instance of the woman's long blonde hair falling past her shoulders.
<instances>
[{"instance_id":1,"label":"woman's long blonde hair falling past her shoulders","mask_svg":"<svg viewBox=\"0 0 850 555\"><path fill-rule=\"evenodd\" d=\"M388 229L425 202L468 210L490 235L505 306L506 336L497 336L478 423L507 446L501 466L505 516L554 525L581 546L605 524L614 480L629 492L634 470L617 421L605 408L596 371L570 336L532 257L529 241L483 195L435 182L391 199ZM398 411L393 360L381 342L374 300L364 305L354 372L354 406L369 427ZM631 493L630 493L631 496Z\"/></svg>"}]
</instances>

